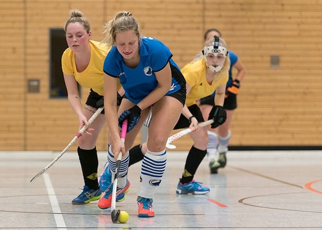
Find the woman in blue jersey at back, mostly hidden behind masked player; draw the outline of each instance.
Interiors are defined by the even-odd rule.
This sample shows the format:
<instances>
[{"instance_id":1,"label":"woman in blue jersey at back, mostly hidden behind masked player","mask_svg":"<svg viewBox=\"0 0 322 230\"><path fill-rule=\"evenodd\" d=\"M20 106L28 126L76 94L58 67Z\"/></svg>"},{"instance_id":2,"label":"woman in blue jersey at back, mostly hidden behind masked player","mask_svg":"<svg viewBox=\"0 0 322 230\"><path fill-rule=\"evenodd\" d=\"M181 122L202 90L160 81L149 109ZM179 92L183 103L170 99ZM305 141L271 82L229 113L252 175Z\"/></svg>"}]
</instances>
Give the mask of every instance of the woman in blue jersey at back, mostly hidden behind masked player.
<instances>
[{"instance_id":1,"label":"woman in blue jersey at back, mostly hidden behind masked player","mask_svg":"<svg viewBox=\"0 0 322 230\"><path fill-rule=\"evenodd\" d=\"M210 38L213 38L214 36L221 36L221 34L217 29L207 30L204 34L205 42ZM231 137L229 127L232 122L234 111L237 108L237 94L239 92L240 82L243 80L245 74L245 68L240 58L238 58L237 55L234 54L231 50L229 50L229 58L229 80L226 86L226 96L224 103L224 108L227 112L227 120L224 124L217 127L217 129L211 129L210 126L208 127L209 143L207 152L211 173L217 173L218 168L223 168L226 166L226 153L228 151L228 144ZM237 69L237 75L235 79L232 78L232 68ZM215 93L202 98L198 103L205 119L208 117L210 110L214 106L214 96Z\"/></svg>"}]
</instances>

